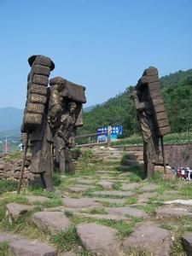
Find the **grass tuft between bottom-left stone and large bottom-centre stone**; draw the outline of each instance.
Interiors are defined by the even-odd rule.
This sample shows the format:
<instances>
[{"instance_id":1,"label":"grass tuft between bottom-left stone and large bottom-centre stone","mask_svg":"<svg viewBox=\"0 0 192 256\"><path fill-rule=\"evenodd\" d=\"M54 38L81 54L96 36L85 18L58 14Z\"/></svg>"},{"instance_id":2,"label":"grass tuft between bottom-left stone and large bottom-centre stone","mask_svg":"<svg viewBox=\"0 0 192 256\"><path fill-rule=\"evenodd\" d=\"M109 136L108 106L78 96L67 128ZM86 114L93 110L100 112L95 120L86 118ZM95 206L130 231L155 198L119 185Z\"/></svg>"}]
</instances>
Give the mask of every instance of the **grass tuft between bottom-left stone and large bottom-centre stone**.
<instances>
[{"instance_id":1,"label":"grass tuft between bottom-left stone and large bottom-centre stone","mask_svg":"<svg viewBox=\"0 0 192 256\"><path fill-rule=\"evenodd\" d=\"M54 243L60 252L73 251L79 246L78 236L74 226L69 227L67 231L50 236L50 241Z\"/></svg>"}]
</instances>

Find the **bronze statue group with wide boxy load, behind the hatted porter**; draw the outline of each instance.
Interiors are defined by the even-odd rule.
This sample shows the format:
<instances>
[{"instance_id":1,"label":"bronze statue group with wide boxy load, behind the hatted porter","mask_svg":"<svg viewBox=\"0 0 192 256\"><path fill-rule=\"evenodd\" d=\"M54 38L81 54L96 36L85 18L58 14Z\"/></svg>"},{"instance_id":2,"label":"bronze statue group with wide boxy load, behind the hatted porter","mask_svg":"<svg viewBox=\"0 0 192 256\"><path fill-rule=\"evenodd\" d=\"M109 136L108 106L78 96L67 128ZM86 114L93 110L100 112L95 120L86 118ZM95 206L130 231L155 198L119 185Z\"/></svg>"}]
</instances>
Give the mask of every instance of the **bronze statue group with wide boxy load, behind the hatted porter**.
<instances>
[{"instance_id":1,"label":"bronze statue group with wide boxy load, behind the hatted porter","mask_svg":"<svg viewBox=\"0 0 192 256\"><path fill-rule=\"evenodd\" d=\"M84 86L73 84L66 79L50 79L51 93L49 124L54 137L55 161L60 166L61 174L74 172L71 148L76 127L82 124L82 104L86 102ZM57 88L55 92L53 89ZM52 105L52 107L51 107ZM54 117L57 117L55 120Z\"/></svg>"}]
</instances>

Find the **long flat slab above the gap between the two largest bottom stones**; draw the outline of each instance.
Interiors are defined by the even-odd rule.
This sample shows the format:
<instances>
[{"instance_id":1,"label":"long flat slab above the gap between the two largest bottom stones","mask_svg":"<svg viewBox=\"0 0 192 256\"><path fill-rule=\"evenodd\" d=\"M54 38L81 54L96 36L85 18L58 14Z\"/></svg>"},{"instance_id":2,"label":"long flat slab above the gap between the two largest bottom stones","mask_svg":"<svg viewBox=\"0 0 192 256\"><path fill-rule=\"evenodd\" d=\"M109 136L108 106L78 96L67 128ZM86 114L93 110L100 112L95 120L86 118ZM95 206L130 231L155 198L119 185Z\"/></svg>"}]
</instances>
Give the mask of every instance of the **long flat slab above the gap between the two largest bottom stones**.
<instances>
[{"instance_id":1,"label":"long flat slab above the gap between the two largest bottom stones","mask_svg":"<svg viewBox=\"0 0 192 256\"><path fill-rule=\"evenodd\" d=\"M109 214L114 215L129 215L131 217L137 218L148 218L148 213L144 212L143 210L131 208L131 207L110 207L106 208Z\"/></svg>"}]
</instances>

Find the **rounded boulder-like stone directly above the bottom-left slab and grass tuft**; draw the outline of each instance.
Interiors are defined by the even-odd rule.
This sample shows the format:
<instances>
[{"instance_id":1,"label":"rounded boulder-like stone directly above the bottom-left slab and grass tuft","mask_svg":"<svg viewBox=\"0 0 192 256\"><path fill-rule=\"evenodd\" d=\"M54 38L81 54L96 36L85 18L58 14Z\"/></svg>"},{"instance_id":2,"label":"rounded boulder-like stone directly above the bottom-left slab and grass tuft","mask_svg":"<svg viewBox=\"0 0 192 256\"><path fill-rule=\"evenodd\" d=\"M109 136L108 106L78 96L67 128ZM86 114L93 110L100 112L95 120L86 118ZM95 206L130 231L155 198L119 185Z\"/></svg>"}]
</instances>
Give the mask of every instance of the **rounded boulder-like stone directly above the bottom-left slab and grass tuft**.
<instances>
[{"instance_id":1,"label":"rounded boulder-like stone directly above the bottom-left slab and grass tuft","mask_svg":"<svg viewBox=\"0 0 192 256\"><path fill-rule=\"evenodd\" d=\"M67 230L71 224L63 212L35 212L29 218L30 223L35 224L38 230L55 234Z\"/></svg>"}]
</instances>

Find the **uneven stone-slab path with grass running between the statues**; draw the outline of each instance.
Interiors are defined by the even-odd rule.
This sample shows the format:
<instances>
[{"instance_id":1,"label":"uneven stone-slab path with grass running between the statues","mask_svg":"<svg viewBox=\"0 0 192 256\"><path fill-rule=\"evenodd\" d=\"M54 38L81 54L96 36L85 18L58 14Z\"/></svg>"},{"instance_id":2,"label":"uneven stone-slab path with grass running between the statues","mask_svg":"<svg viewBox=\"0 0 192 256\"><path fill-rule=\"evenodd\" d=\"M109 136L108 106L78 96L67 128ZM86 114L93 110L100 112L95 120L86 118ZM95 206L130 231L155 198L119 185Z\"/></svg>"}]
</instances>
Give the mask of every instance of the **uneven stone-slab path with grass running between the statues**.
<instances>
[{"instance_id":1,"label":"uneven stone-slab path with grass running between the statues","mask_svg":"<svg viewBox=\"0 0 192 256\"><path fill-rule=\"evenodd\" d=\"M142 181L132 172L117 172L112 159L120 160L122 152L111 149L111 159L106 157L90 175L61 177L62 189L56 194L61 203L55 207L55 198L25 192L21 197L26 203L7 203L3 224L8 219L9 227L13 228L9 233L8 229L1 228L0 242L7 241L13 255L32 256L166 256L172 253L176 239L183 241L183 248L191 252L192 233L182 231L183 237L177 238L183 218L192 219L192 199L182 194L185 184L183 187L176 184L172 190L172 183L168 186ZM136 160L131 155L125 163L135 164ZM35 229L40 238L20 235L22 217L25 217L26 229ZM184 225L191 224L186 221ZM57 248L55 241L60 241ZM66 242L68 245L61 246Z\"/></svg>"}]
</instances>

